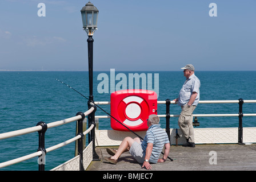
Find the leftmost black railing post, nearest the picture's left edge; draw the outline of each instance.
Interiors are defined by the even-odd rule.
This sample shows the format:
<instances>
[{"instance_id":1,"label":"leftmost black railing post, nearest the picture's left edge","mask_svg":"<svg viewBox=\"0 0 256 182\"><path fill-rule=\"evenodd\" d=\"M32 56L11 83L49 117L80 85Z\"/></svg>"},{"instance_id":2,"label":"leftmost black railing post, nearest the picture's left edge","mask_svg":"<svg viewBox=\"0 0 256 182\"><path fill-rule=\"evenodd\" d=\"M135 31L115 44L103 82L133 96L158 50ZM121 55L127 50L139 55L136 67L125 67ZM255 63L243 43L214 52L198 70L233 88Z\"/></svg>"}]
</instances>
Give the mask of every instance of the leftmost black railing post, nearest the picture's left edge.
<instances>
[{"instance_id":1,"label":"leftmost black railing post, nearest the picture's left edge","mask_svg":"<svg viewBox=\"0 0 256 182\"><path fill-rule=\"evenodd\" d=\"M42 130L38 131L38 150L37 151L42 151L42 155L38 156L38 171L45 171L45 155L46 155L46 150L45 150L45 132L47 130L47 124L45 122L38 122L37 126L40 125L42 126Z\"/></svg>"}]
</instances>

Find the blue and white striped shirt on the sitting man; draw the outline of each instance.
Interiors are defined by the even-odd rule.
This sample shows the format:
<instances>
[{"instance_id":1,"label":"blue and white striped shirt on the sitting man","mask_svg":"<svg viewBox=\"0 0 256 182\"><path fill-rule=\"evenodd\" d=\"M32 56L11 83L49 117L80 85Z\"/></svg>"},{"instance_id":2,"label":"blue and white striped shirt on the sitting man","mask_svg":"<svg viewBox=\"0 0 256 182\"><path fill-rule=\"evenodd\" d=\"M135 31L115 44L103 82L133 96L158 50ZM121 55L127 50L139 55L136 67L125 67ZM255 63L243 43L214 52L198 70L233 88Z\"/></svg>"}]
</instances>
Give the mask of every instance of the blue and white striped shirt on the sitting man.
<instances>
[{"instance_id":1,"label":"blue and white striped shirt on the sitting man","mask_svg":"<svg viewBox=\"0 0 256 182\"><path fill-rule=\"evenodd\" d=\"M165 130L161 129L160 125L151 125L141 143L144 153L146 153L147 143L153 143L153 150L149 162L157 163L157 160L159 159L159 156L163 150L163 146L165 143L170 142L167 133Z\"/></svg>"}]
</instances>

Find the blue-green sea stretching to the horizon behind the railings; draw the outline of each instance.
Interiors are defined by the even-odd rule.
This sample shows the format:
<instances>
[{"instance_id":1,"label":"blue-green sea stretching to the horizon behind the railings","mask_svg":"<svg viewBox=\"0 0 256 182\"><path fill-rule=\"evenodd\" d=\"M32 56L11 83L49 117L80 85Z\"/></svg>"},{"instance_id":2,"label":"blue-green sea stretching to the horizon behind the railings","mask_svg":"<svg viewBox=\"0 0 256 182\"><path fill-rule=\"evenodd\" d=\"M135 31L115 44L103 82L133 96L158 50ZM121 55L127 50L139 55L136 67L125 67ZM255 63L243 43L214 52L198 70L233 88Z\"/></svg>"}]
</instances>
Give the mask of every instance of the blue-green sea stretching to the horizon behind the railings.
<instances>
[{"instance_id":1,"label":"blue-green sea stretching to the horizon behind the railings","mask_svg":"<svg viewBox=\"0 0 256 182\"><path fill-rule=\"evenodd\" d=\"M121 74L119 74L121 73ZM147 88L157 90L158 101L174 100L178 97L186 78L182 71L94 71L94 101L110 101L115 89L128 89L131 84L129 74L146 76ZM119 74L119 75L118 75ZM256 100L256 71L196 71L201 81L200 100ZM120 78L122 76L122 79ZM36 126L38 122L59 121L85 112L87 100L73 89L56 80L70 85L84 96L89 97L89 74L86 71L1 71L0 72L0 133ZM126 79L126 80L125 80ZM150 82L151 80L151 82ZM112 81L112 82L111 82ZM126 81L127 85L121 85ZM130 82L129 82L130 81ZM155 82L156 81L156 82ZM122 82L123 83L123 82ZM141 80L142 83L142 80ZM140 84L140 83L139 83ZM145 88L145 85L139 85ZM101 105L110 113L110 105ZM238 104L198 104L194 114L238 114ZM181 107L170 105L170 114L179 114ZM166 113L166 105L158 105L158 114ZM243 113L256 113L255 103L243 104ZM97 109L95 115L106 115ZM198 117L200 126L238 127L238 117ZM165 128L165 118L161 118ZM48 129L45 147L65 142L75 136L76 122ZM170 118L170 127L178 128L178 118ZM256 117L243 117L243 127L256 127ZM111 130L110 119L99 119L100 130ZM134 136L135 137L135 136ZM75 143L68 144L46 154L45 170L50 170L74 157ZM36 152L38 133L0 140L0 163ZM36 171L38 158L14 164L1 171Z\"/></svg>"}]
</instances>

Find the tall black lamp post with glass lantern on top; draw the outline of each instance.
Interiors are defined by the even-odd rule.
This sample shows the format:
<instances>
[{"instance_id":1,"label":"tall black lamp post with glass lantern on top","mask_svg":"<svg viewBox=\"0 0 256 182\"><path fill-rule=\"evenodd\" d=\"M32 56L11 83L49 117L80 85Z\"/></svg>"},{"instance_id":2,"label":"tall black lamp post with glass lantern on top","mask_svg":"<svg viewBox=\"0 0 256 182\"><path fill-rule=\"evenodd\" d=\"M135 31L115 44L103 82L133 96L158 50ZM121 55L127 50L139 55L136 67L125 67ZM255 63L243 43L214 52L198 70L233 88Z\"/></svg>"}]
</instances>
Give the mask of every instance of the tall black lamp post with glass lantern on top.
<instances>
[{"instance_id":1,"label":"tall black lamp post with glass lantern on top","mask_svg":"<svg viewBox=\"0 0 256 182\"><path fill-rule=\"evenodd\" d=\"M100 160L99 156L95 152L95 105L90 105L93 101L93 33L97 30L97 21L98 21L99 10L93 6L93 3L90 1L81 10L83 30L87 32L88 35L88 63L89 63L89 109L91 106L94 106L93 113L88 115L89 127L91 124L94 124L93 130L91 130L89 135L89 143L93 141L93 160Z\"/></svg>"}]
</instances>

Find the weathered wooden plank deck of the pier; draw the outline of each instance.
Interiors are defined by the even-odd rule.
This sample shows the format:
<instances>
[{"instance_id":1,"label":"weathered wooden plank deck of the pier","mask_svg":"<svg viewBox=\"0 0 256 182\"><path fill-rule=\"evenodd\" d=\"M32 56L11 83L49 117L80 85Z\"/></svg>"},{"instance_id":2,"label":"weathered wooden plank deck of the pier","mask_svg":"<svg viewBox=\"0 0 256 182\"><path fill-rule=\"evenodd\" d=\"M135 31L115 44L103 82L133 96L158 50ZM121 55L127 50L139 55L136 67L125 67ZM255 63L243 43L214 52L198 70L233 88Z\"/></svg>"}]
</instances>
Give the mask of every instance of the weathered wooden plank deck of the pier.
<instances>
[{"instance_id":1,"label":"weathered wooden plank deck of the pier","mask_svg":"<svg viewBox=\"0 0 256 182\"><path fill-rule=\"evenodd\" d=\"M117 148L117 147L112 147ZM117 164L104 163L109 157L105 147L97 147L100 162L91 162L87 171L147 171L141 168L129 152L125 152L118 159ZM215 151L215 155L210 154ZM217 156L216 156L217 154ZM216 156L215 160L213 159ZM246 171L256 170L256 144L197 144L195 148L171 146L169 159L165 163L151 164L155 171L195 170L195 171ZM161 155L162 158L162 155ZM216 161L217 159L217 161ZM217 164L210 164L217 162Z\"/></svg>"}]
</instances>

